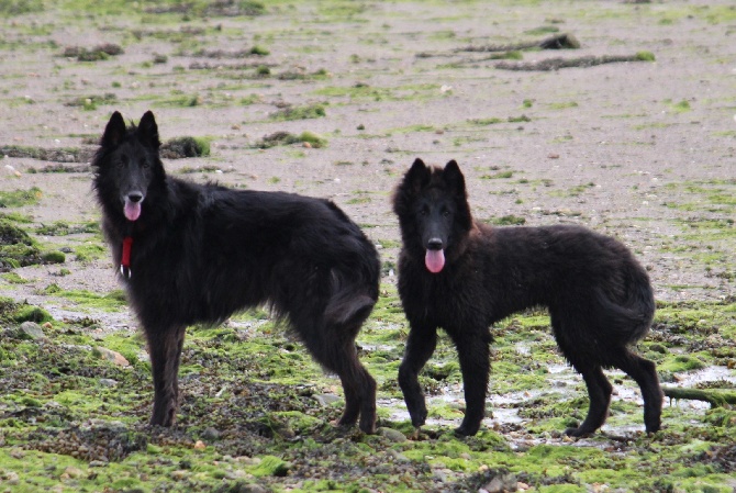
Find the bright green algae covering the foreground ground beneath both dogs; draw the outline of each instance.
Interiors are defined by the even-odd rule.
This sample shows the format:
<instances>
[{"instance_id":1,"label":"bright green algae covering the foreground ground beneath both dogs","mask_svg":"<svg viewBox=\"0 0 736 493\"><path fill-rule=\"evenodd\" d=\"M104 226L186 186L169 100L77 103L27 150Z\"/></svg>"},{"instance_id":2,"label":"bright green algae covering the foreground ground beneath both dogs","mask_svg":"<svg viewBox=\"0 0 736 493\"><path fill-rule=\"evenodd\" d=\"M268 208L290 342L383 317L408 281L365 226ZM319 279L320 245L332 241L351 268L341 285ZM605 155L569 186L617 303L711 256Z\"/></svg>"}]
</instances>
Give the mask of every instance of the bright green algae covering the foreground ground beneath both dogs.
<instances>
[{"instance_id":1,"label":"bright green algae covering the foreground ground beneath both dogs","mask_svg":"<svg viewBox=\"0 0 736 493\"><path fill-rule=\"evenodd\" d=\"M395 288L387 285L358 340L364 348L361 359L379 382L395 381L395 363L401 359L401 340L405 337L402 335L405 330L405 321L399 307ZM678 320L680 326L683 326L688 321L695 320L695 327L700 328L693 332L693 335L701 337L707 332L705 326L710 324L698 325L696 322L716 307L717 313L710 320L715 324L724 322L733 325L733 313L736 310L733 304L724 303L660 304L658 323L667 324ZM728 322L727 314L731 314L732 322ZM534 445L512 451L511 438L505 433L481 429L476 437L457 438L453 435L451 427L446 425L426 427L426 432L421 432L416 438L401 444L391 444L383 437L370 436L345 440L341 438L344 435L335 435L330 427L325 428L328 417L336 417L341 406L321 407L311 396L315 392L324 392L336 382L328 376L322 374L302 346L291 341L287 337L288 333L267 322L266 317L266 312L252 311L234 317L234 325L192 327L188 330L180 372L185 400L179 419L181 426L185 426L182 429L187 430L183 435L168 432L164 435L158 435L160 432L154 435L145 433L144 435L149 437L147 448L134 451L123 460L107 462L97 468L89 468L88 461L74 459L68 455L35 451L33 446L27 451L23 449L24 459L31 463L21 464L13 459L10 451L2 449L0 470L22 473L20 481L23 484L30 484L29 478L37 475L38 478L33 481L51 486L58 484L59 475L71 466L82 471L82 474L75 480L75 488L94 488L99 484L100 480L88 472L93 469L102 478L114 477L112 483L120 489L138 488L142 491L153 491L157 484L168 482L172 485L172 491L185 491L185 488L212 488L232 474L227 471L237 470L253 474L256 481L269 483L278 479L292 482L297 478L304 478L302 474L306 470L304 469L306 462L303 462L303 458L306 456L317 455L309 461L312 470L321 467L321 463L336 471L343 471L342 464L352 464L345 469L347 471L372 458L378 458L384 463L393 463L389 457L399 453L408 461L404 462L405 467L416 468L419 471L413 474L411 481L400 488L399 483L391 483L388 469L386 474L381 474L377 469L368 484L383 484L383 486L392 484L397 488L395 491L402 489L422 491L421 484L428 484L423 482L431 481L434 470L447 470L458 474L458 478L472 478L484 467L492 466L508 468L517 474L520 481L532 485L534 491L586 491L586 485L592 484L606 484L623 491L658 491L657 484L663 484L662 480L658 480L662 474L666 474L668 484L672 488L714 488L716 490L713 491L721 491L718 489L724 485L722 469L704 468L703 462L698 461L698 457L711 450L711 447L723 440L724 436L732 436L733 439L735 421L733 412L727 410L720 411L720 414L687 415L688 421L701 421L712 429L709 432L711 438L705 439L706 436L701 435L698 445L692 437L703 432L696 432L692 425L688 428L687 423L673 427L670 422L678 419L677 413L666 410L666 424L672 432L661 432L658 434L661 438L654 439L634 435L629 439L629 445L626 445L625 453L617 455L603 449L611 445L610 439L603 435L593 438L593 444L598 446L592 447L557 442ZM492 388L498 388L504 381L515 381L518 385L520 381L528 377L525 374L528 370L514 362L529 359L523 355L513 356L513 347L516 344L527 345L535 355L534 359L537 359L539 354L554 352L551 350L554 340L547 326L548 317L535 312L516 315L499 324L494 329L498 332L494 346L503 356L497 355L491 376ZM13 354L15 361L24 362L15 368L30 370L43 360L51 361L57 358L54 355L64 350L63 347L69 343L73 345L91 343L87 336L78 333L78 328L74 326L69 328L73 330L58 332L56 340L44 349L44 351L51 349L52 355L45 357L42 357L36 345L22 343L23 349ZM13 346L19 347L20 344L20 341L2 340L0 346L7 350ZM124 419L126 423L124 426L129 430L137 429L138 424L143 425L147 419L152 396L148 366L138 365L137 357L133 358L144 350L143 338L115 333L93 344L119 350L124 356L130 356L135 365L129 369L119 369L81 350L66 352L64 357L66 369L49 373L56 376L53 378L40 374L34 378L36 383L33 385L25 383L26 389L35 389L32 393L11 390L11 401L0 400L0 414L3 413L3 402L4 405L12 402L13 405L25 410L53 410L54 407L49 407L48 404L53 401L60 406L60 410L65 410L65 413L70 413L67 417L64 417L64 414L56 414L58 417L49 418L57 429L68 429L70 423L76 419L86 419L90 416L102 418L108 415ZM560 361L559 357L556 358ZM0 365L4 366L4 361L0 359ZM393 365L389 365L390 362ZM282 367L287 365L295 365L295 371L286 371ZM279 370L275 371L274 367ZM441 381L451 380L459 383L454 348L443 337L437 355L433 358L424 378L428 380L439 378ZM531 384L529 389L547 386L546 374L539 373L536 377L536 386ZM99 376L112 378L120 383L105 390L98 383ZM254 378L256 380L253 380ZM53 383L57 379L62 381ZM24 381L31 380L25 378ZM193 385L194 382L198 382L197 385ZM203 386L200 390L201 385ZM248 404L248 400L258 395L254 393L258 385L269 389L268 393L258 399L270 401L271 405L281 407L280 411L268 411L260 404L256 406ZM379 397L384 392L381 386ZM523 404L523 415L528 419L525 427L532 434L554 436L555 430L573 424L571 421L580 419L587 407L582 386L579 392L575 399L567 393L549 392L534 400L520 402ZM220 396L214 396L215 393ZM400 393L392 394L401 399ZM636 406L621 405L617 402L614 402L612 412L614 413L612 421L621 416L625 423L631 423L635 419L635 414L638 414ZM250 417L243 421L237 417L241 413ZM30 436L29 434L37 425L31 426L31 422L22 416L13 417L11 422L7 413L0 415L0 435L5 437L7 442L12 440L15 444L31 444L23 437ZM412 434L412 427L408 422L391 422L386 413L381 413L381 416L383 416L382 426L389 425L404 435ZM431 416L458 423L462 412L460 407L451 404L435 405L431 402ZM241 427L238 432L241 438L224 433L231 426ZM243 426L245 427L242 428ZM219 429L220 438L205 439L205 449L193 448L194 441L208 427ZM246 445L248 439L244 434L248 433L247 429L258 430L258 434L268 438ZM684 435L680 437L680 434ZM324 440L331 435L333 438L328 438L327 441L314 441L314 437L322 437L321 440ZM157 438L158 436L164 438ZM673 445L668 445L669 441L673 441ZM45 448L55 450L62 447L63 440L43 442L46 444ZM684 445L688 446L683 447ZM253 453L258 460L235 462L232 457L243 453L237 450L250 450L248 455ZM344 453L347 456L343 458ZM225 456L230 456L231 459L226 459ZM324 457L324 460L317 457ZM56 464L54 473L48 472L51 464ZM334 477L330 485L338 490L347 488L356 480L350 478L349 473L342 472ZM324 481L326 480L302 482L302 489L297 491L320 491L327 485Z\"/></svg>"}]
</instances>

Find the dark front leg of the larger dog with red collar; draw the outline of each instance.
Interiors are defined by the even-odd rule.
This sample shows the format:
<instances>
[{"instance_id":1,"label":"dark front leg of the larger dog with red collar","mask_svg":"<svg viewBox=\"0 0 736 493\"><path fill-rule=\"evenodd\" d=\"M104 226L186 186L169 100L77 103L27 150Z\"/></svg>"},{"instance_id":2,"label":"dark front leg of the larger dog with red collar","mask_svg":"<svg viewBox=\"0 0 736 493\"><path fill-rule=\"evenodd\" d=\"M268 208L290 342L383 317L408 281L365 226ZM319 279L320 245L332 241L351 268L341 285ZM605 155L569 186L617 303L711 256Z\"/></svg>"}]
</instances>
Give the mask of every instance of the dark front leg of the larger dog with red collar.
<instances>
[{"instance_id":1,"label":"dark front leg of the larger dog with red collar","mask_svg":"<svg viewBox=\"0 0 736 493\"><path fill-rule=\"evenodd\" d=\"M154 376L154 412L150 425L171 426L179 406L179 360L185 327L146 329Z\"/></svg>"}]
</instances>

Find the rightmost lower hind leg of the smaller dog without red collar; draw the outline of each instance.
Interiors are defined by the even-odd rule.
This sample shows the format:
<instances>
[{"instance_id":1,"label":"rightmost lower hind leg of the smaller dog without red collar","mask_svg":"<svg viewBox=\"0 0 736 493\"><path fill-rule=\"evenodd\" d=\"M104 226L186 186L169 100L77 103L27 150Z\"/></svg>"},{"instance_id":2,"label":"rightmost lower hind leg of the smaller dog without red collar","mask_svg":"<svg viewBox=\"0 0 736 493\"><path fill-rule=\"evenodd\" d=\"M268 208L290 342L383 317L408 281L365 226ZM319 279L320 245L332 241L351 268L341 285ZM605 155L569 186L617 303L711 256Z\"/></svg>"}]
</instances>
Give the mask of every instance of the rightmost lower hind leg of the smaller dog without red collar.
<instances>
[{"instance_id":1,"label":"rightmost lower hind leg of the smaller dog without red collar","mask_svg":"<svg viewBox=\"0 0 736 493\"><path fill-rule=\"evenodd\" d=\"M614 355L613 366L639 385L644 399L644 426L647 433L658 432L661 427L662 391L655 363L624 348Z\"/></svg>"}]
</instances>

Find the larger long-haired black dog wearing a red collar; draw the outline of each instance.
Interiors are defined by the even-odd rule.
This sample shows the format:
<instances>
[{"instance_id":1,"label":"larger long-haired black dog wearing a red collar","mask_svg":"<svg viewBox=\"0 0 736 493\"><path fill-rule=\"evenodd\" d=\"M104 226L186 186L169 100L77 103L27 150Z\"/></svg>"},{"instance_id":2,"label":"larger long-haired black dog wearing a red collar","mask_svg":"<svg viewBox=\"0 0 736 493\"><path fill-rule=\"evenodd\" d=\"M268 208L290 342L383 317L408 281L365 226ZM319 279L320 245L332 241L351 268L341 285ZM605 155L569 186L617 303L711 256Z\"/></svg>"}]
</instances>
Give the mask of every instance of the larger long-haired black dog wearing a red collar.
<instances>
[{"instance_id":1,"label":"larger long-haired black dog wearing a red collar","mask_svg":"<svg viewBox=\"0 0 736 493\"><path fill-rule=\"evenodd\" d=\"M152 112L113 113L92 163L102 228L150 355L150 423L170 426L185 328L268 304L345 392L341 425L375 430L376 382L355 338L378 299L375 246L335 204L166 176Z\"/></svg>"}]
</instances>

